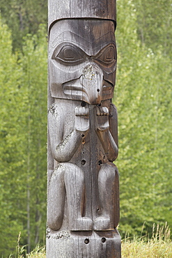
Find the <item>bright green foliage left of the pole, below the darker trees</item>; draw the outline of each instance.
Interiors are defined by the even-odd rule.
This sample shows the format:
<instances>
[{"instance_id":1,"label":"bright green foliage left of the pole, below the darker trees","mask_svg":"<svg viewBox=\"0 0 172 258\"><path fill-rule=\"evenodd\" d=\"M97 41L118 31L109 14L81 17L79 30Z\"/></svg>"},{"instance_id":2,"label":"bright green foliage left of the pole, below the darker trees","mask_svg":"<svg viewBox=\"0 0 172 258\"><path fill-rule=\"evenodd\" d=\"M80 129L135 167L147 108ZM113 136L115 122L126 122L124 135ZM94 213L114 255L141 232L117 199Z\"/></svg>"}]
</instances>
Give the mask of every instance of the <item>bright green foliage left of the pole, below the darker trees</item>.
<instances>
[{"instance_id":1,"label":"bright green foliage left of the pole, below the darker trees","mask_svg":"<svg viewBox=\"0 0 172 258\"><path fill-rule=\"evenodd\" d=\"M46 223L47 47L45 29L24 39L13 54L10 31L0 24L0 254L43 243ZM34 96L34 98L32 98ZM28 207L28 208L27 208ZM29 227L26 228L30 216Z\"/></svg>"}]
</instances>

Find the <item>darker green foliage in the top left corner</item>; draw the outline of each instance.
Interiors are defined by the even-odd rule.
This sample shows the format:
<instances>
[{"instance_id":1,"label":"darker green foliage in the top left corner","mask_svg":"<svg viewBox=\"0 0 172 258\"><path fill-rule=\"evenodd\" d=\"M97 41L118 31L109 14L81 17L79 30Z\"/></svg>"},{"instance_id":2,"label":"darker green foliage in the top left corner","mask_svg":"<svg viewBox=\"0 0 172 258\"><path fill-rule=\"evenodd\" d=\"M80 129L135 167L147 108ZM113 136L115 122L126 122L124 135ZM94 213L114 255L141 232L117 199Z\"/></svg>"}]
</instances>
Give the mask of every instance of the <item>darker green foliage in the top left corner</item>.
<instances>
[{"instance_id":1,"label":"darker green foliage in the top left corner","mask_svg":"<svg viewBox=\"0 0 172 258\"><path fill-rule=\"evenodd\" d=\"M39 24L47 22L45 0L0 0L3 21L13 34L13 48L22 48L22 38L27 33L37 33Z\"/></svg>"}]
</instances>

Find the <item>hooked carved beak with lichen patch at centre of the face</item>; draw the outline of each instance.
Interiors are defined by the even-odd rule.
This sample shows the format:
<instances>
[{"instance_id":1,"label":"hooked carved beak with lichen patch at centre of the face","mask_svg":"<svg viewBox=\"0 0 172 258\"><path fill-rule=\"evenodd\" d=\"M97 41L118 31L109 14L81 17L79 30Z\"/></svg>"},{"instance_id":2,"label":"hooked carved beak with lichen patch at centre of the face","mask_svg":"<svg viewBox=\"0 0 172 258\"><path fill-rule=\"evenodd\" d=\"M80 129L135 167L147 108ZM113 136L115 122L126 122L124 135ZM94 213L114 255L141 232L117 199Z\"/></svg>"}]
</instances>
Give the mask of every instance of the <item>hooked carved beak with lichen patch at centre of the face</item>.
<instances>
[{"instance_id":1,"label":"hooked carved beak with lichen patch at centre of the face","mask_svg":"<svg viewBox=\"0 0 172 258\"><path fill-rule=\"evenodd\" d=\"M80 83L86 92L89 104L98 104L102 100L103 73L94 63L88 63L82 70Z\"/></svg>"}]
</instances>

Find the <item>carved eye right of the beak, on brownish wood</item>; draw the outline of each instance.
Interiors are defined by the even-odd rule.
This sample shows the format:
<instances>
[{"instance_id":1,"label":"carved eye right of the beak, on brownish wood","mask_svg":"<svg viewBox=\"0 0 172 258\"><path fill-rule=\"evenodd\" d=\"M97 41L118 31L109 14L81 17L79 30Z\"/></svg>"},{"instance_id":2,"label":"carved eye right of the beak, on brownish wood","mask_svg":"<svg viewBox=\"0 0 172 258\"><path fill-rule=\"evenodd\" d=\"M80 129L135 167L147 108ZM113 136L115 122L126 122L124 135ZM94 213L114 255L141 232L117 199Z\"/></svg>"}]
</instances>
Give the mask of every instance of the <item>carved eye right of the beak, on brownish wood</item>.
<instances>
[{"instance_id":1,"label":"carved eye right of the beak, on brownish wood","mask_svg":"<svg viewBox=\"0 0 172 258\"><path fill-rule=\"evenodd\" d=\"M101 51L100 54L98 54L96 60L103 63L111 64L116 61L115 56L116 52L114 46L109 46L106 47L105 50Z\"/></svg>"}]
</instances>

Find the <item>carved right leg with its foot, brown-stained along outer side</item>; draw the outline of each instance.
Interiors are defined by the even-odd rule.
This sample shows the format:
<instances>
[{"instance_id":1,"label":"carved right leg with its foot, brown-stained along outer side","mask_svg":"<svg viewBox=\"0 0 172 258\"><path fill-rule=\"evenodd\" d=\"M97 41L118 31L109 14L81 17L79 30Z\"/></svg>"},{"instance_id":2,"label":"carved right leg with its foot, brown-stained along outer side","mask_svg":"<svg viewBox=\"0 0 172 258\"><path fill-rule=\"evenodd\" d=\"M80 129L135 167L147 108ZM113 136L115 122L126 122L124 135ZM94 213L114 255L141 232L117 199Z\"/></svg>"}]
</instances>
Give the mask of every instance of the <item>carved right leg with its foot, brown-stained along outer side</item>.
<instances>
[{"instance_id":1,"label":"carved right leg with its foot, brown-stained along outer side","mask_svg":"<svg viewBox=\"0 0 172 258\"><path fill-rule=\"evenodd\" d=\"M118 169L113 163L106 163L98 175L101 216L93 224L96 231L113 230L119 220Z\"/></svg>"}]
</instances>

